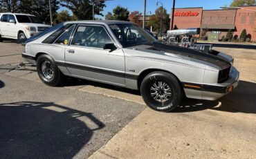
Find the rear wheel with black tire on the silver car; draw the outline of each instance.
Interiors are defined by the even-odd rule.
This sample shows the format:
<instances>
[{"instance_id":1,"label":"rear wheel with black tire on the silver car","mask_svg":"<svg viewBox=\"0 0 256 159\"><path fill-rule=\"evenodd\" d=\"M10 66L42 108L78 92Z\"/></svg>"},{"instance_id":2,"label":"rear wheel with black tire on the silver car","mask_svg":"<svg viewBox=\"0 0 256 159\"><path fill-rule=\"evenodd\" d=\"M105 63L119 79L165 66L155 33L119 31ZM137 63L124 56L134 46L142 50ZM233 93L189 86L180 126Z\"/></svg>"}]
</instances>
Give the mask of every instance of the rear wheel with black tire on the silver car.
<instances>
[{"instance_id":1,"label":"rear wheel with black tire on the silver car","mask_svg":"<svg viewBox=\"0 0 256 159\"><path fill-rule=\"evenodd\" d=\"M37 73L42 82L48 86L61 86L66 81L66 76L50 55L44 54L37 58Z\"/></svg>"}]
</instances>

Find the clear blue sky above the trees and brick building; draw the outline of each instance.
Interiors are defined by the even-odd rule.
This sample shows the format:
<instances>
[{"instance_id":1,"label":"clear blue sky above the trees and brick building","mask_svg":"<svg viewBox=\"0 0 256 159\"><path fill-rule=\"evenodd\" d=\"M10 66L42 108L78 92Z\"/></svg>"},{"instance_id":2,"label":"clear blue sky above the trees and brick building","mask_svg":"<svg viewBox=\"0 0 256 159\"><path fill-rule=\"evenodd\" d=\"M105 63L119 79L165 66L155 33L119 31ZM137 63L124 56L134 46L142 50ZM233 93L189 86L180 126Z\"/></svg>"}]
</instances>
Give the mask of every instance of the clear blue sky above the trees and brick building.
<instances>
[{"instance_id":1,"label":"clear blue sky above the trees and brick building","mask_svg":"<svg viewBox=\"0 0 256 159\"><path fill-rule=\"evenodd\" d=\"M147 0L147 12L151 11L152 14L156 10L156 2L161 1L163 7L167 9L167 12L170 13L172 8L172 0ZM227 5L229 6L232 3L232 0L176 0L176 8L188 8L188 7L203 7L205 10L210 9L219 9L219 7ZM120 5L122 7L128 8L130 12L138 10L143 12L144 0L113 0L106 1L106 6L103 15L106 15L107 12L112 12L113 8ZM60 8L61 11L65 8ZM149 13L148 13L149 14ZM96 16L104 19L104 17Z\"/></svg>"}]
</instances>

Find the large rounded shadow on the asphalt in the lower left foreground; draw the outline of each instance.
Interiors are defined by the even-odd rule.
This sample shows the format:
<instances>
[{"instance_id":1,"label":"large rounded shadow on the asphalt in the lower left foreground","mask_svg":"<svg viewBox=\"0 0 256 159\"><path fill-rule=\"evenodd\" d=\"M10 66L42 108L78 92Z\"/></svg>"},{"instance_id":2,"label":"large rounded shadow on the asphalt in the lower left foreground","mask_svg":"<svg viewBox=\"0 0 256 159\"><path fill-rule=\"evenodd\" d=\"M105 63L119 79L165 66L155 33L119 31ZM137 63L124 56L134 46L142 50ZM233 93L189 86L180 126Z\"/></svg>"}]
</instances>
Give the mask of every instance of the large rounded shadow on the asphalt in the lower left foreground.
<instances>
[{"instance_id":1,"label":"large rounded shadow on the asphalt in the lower left foreground","mask_svg":"<svg viewBox=\"0 0 256 159\"><path fill-rule=\"evenodd\" d=\"M104 124L53 102L12 102L0 104L0 128L0 158L73 158Z\"/></svg>"}]
</instances>

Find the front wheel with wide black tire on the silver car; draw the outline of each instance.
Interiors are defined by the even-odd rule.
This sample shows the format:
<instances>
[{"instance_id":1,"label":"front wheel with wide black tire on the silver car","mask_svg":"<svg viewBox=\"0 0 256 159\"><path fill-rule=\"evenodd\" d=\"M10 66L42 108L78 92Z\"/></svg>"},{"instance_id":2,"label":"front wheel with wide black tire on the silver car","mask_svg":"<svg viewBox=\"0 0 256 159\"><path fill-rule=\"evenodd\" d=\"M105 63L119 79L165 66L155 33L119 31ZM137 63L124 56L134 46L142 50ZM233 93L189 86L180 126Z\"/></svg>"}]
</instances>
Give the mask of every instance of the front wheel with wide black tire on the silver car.
<instances>
[{"instance_id":1,"label":"front wheel with wide black tire on the silver car","mask_svg":"<svg viewBox=\"0 0 256 159\"><path fill-rule=\"evenodd\" d=\"M178 79L171 73L162 71L149 73L141 83L140 93L147 106L156 111L172 111L183 98Z\"/></svg>"}]
</instances>

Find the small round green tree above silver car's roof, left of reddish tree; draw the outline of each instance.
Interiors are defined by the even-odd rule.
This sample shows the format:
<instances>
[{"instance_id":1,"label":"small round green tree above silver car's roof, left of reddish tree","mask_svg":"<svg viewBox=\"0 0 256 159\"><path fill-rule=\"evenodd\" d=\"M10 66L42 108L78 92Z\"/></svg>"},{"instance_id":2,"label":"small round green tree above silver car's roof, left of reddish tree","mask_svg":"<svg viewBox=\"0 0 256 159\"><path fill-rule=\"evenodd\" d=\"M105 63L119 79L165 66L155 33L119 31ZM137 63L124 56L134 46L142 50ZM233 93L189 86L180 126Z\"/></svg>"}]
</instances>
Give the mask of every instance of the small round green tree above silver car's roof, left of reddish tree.
<instances>
[{"instance_id":1,"label":"small round green tree above silver car's roof, left of reddish tree","mask_svg":"<svg viewBox=\"0 0 256 159\"><path fill-rule=\"evenodd\" d=\"M129 21L129 10L121 6L113 8L113 20Z\"/></svg>"}]
</instances>

